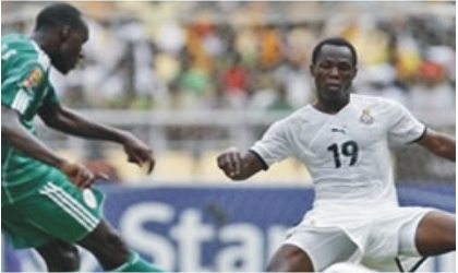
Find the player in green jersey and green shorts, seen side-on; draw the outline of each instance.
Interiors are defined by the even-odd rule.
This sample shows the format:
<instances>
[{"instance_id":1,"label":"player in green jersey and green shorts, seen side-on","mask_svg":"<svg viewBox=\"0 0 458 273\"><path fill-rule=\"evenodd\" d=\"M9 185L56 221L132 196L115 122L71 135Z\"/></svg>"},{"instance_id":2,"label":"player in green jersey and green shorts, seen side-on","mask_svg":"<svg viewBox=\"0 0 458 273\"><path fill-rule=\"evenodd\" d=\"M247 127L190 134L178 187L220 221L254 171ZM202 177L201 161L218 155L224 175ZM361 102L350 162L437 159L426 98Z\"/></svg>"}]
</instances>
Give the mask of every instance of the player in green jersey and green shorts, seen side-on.
<instances>
[{"instance_id":1,"label":"player in green jersey and green shorts, seen side-on","mask_svg":"<svg viewBox=\"0 0 458 273\"><path fill-rule=\"evenodd\" d=\"M53 66L67 74L83 57L88 27L74 7L55 3L40 11L31 38L1 39L1 224L15 248L35 248L49 271L75 271L75 245L91 251L104 270L161 271L131 250L101 217L103 194L92 188L101 174L70 162L36 138L35 116L50 128L123 146L129 161L155 159L133 134L94 121L59 103L49 81Z\"/></svg>"}]
</instances>

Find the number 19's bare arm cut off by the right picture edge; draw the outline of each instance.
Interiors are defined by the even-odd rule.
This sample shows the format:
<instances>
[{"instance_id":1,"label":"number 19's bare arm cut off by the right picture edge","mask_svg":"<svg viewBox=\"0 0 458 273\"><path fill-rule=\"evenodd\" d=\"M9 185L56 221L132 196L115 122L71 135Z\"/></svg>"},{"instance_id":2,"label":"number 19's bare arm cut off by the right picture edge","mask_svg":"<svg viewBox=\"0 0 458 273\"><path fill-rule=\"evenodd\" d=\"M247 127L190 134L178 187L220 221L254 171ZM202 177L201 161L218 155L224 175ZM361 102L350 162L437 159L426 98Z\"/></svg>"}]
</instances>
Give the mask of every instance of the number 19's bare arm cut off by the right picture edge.
<instances>
[{"instance_id":1,"label":"number 19's bare arm cut off by the right picture edge","mask_svg":"<svg viewBox=\"0 0 458 273\"><path fill-rule=\"evenodd\" d=\"M453 136L429 128L418 143L427 149L430 152L455 162L456 141Z\"/></svg>"}]
</instances>

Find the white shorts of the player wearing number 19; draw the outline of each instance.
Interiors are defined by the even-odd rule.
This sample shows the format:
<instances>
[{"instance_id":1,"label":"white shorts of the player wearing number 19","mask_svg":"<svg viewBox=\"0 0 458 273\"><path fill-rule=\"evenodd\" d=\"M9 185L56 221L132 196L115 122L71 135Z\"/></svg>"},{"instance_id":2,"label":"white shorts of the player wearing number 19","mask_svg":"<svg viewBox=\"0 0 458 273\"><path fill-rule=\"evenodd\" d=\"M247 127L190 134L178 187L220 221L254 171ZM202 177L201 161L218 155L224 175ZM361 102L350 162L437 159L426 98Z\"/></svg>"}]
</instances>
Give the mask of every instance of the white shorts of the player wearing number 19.
<instances>
[{"instance_id":1,"label":"white shorts of the player wearing number 19","mask_svg":"<svg viewBox=\"0 0 458 273\"><path fill-rule=\"evenodd\" d=\"M343 261L393 271L397 256L419 256L414 247L417 227L431 210L390 207L375 215L346 217L308 213L312 216L291 228L284 244L308 253L317 272Z\"/></svg>"}]
</instances>

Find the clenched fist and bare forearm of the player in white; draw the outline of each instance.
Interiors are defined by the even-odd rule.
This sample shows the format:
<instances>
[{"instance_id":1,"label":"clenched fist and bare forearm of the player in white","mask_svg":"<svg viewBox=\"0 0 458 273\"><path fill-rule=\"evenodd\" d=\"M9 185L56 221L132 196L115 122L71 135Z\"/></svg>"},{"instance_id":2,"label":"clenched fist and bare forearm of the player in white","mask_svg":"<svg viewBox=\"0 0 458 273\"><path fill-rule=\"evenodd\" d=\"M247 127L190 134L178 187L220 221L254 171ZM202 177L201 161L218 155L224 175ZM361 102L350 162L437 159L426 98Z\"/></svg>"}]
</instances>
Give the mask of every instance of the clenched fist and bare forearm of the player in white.
<instances>
[{"instance_id":1,"label":"clenched fist and bare forearm of the player in white","mask_svg":"<svg viewBox=\"0 0 458 273\"><path fill-rule=\"evenodd\" d=\"M251 152L241 154L239 149L229 147L217 157L218 167L232 180L245 180L261 169L261 159Z\"/></svg>"}]
</instances>

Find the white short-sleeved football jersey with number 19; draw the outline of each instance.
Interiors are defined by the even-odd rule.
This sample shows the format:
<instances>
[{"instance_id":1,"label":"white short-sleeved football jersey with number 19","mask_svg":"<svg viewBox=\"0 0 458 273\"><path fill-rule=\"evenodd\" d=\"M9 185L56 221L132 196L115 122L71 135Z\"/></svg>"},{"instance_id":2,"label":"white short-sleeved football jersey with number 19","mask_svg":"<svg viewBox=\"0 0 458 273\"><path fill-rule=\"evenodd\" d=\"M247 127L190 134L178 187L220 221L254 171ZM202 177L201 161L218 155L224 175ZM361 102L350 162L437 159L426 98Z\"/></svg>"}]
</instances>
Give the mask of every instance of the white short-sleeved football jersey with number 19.
<instances>
[{"instance_id":1,"label":"white short-sleeved football jersey with number 19","mask_svg":"<svg viewBox=\"0 0 458 273\"><path fill-rule=\"evenodd\" d=\"M335 115L311 105L275 122L250 150L268 166L299 158L315 186L314 209L397 206L388 140L409 143L425 126L400 104L352 94Z\"/></svg>"}]
</instances>

